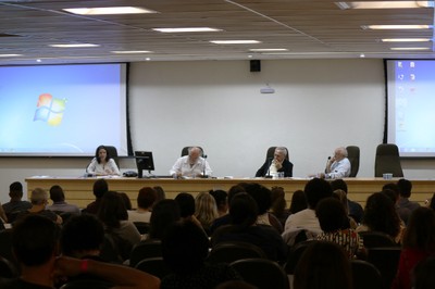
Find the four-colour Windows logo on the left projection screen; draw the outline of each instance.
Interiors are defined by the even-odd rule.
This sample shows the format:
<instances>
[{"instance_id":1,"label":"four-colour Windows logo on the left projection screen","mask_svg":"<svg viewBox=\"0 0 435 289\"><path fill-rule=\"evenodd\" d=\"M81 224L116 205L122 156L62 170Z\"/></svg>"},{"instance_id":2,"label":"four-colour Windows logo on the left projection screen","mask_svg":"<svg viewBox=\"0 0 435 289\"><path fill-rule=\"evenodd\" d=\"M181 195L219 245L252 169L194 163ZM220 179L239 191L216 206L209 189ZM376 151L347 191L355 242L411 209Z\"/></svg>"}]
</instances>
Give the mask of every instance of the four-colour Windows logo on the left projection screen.
<instances>
[{"instance_id":1,"label":"four-colour Windows logo on the left projection screen","mask_svg":"<svg viewBox=\"0 0 435 289\"><path fill-rule=\"evenodd\" d=\"M58 126L62 122L65 111L66 99L55 99L50 93L39 96L37 109L35 111L35 121L42 121L51 126Z\"/></svg>"}]
</instances>

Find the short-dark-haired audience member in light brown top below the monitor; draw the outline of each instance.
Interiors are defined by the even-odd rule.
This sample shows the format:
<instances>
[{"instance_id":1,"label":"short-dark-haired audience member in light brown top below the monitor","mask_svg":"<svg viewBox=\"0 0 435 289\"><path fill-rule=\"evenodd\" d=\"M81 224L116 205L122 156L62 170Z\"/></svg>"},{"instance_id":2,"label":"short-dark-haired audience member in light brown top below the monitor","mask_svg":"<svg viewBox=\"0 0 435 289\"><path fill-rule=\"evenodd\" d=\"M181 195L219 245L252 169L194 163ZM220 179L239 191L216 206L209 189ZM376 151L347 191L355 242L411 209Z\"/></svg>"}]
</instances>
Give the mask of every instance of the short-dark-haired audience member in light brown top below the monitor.
<instances>
[{"instance_id":1,"label":"short-dark-haired audience member in light brown top below the monitor","mask_svg":"<svg viewBox=\"0 0 435 289\"><path fill-rule=\"evenodd\" d=\"M157 192L153 188L141 188L137 194L137 209L128 211L128 221L149 223L156 200Z\"/></svg>"}]
</instances>

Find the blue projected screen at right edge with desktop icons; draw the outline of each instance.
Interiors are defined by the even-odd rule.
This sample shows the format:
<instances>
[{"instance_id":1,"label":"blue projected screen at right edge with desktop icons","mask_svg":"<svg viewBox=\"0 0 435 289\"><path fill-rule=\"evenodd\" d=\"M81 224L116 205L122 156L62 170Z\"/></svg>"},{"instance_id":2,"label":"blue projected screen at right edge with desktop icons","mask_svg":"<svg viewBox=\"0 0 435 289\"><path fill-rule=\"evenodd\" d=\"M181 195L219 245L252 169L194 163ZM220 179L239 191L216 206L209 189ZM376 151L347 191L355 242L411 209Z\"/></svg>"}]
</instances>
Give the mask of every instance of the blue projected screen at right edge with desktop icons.
<instances>
[{"instance_id":1,"label":"blue projected screen at right edge with desktop icons","mask_svg":"<svg viewBox=\"0 0 435 289\"><path fill-rule=\"evenodd\" d=\"M388 60L388 142L400 156L435 156L435 61Z\"/></svg>"}]
</instances>

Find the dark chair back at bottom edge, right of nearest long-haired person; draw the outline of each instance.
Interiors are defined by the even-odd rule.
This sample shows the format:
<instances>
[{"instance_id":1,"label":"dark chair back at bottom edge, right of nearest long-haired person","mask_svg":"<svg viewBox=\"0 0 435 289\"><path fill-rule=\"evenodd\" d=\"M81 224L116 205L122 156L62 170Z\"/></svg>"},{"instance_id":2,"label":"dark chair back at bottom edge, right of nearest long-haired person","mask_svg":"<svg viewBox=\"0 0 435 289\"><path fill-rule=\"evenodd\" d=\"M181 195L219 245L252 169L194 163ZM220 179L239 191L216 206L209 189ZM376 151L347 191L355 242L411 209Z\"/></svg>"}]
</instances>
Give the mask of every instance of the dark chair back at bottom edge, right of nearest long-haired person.
<instances>
[{"instance_id":1,"label":"dark chair back at bottom edge, right of nearest long-haired person","mask_svg":"<svg viewBox=\"0 0 435 289\"><path fill-rule=\"evenodd\" d=\"M353 289L382 289L380 271L370 262L351 260Z\"/></svg>"}]
</instances>

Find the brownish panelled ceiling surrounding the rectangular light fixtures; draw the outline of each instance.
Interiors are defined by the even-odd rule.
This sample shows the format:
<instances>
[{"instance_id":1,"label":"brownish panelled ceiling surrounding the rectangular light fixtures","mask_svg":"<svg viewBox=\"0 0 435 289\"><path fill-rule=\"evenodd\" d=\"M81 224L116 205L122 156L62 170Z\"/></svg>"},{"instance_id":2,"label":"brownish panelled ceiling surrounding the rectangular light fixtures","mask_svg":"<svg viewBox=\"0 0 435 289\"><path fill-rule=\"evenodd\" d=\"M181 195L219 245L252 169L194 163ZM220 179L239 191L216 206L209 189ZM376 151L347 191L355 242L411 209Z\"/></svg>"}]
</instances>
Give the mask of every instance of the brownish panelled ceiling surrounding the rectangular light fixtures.
<instances>
[{"instance_id":1,"label":"brownish panelled ceiling surrounding the rectangular light fixtures","mask_svg":"<svg viewBox=\"0 0 435 289\"><path fill-rule=\"evenodd\" d=\"M141 7L154 14L78 16L67 8ZM362 25L434 24L434 10L340 10L327 0L0 0L0 65L183 60L294 58L424 58L435 53L394 52L381 38L433 38L433 29L370 30ZM217 33L163 34L151 28L207 26ZM249 39L257 45L214 45L210 40ZM52 48L55 43L95 43L97 48ZM251 48L285 48L290 54L252 53ZM149 50L149 54L114 54Z\"/></svg>"}]
</instances>

